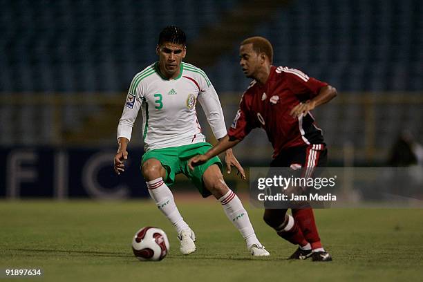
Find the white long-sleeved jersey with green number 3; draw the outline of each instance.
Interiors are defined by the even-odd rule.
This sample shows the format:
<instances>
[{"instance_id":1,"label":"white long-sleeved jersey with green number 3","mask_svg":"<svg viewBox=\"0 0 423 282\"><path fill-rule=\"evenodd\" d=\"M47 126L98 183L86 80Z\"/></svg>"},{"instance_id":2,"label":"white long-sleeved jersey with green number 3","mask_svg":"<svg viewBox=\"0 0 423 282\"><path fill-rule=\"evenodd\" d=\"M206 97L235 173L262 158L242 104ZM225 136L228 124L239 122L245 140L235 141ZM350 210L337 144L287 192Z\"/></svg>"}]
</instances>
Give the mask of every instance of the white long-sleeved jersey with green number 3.
<instances>
[{"instance_id":1,"label":"white long-sleeved jersey with green number 3","mask_svg":"<svg viewBox=\"0 0 423 282\"><path fill-rule=\"evenodd\" d=\"M118 138L131 140L138 111L142 111L144 150L205 142L196 114L196 102L203 107L216 139L226 135L222 106L209 78L200 68L182 62L180 74L167 79L158 62L135 75L129 87Z\"/></svg>"}]
</instances>

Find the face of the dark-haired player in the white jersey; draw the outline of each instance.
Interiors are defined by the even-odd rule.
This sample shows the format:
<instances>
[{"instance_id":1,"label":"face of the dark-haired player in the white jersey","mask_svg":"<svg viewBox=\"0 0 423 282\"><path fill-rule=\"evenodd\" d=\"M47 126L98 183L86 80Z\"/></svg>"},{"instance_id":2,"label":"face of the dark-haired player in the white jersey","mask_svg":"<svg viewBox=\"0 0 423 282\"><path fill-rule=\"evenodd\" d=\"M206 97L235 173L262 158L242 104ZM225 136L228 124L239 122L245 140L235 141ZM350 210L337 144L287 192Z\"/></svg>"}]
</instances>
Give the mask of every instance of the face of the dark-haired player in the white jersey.
<instances>
[{"instance_id":1,"label":"face of the dark-haired player in the white jersey","mask_svg":"<svg viewBox=\"0 0 423 282\"><path fill-rule=\"evenodd\" d=\"M164 42L157 46L156 53L159 56L160 71L169 79L178 77L182 59L187 55L187 47L182 44Z\"/></svg>"}]
</instances>

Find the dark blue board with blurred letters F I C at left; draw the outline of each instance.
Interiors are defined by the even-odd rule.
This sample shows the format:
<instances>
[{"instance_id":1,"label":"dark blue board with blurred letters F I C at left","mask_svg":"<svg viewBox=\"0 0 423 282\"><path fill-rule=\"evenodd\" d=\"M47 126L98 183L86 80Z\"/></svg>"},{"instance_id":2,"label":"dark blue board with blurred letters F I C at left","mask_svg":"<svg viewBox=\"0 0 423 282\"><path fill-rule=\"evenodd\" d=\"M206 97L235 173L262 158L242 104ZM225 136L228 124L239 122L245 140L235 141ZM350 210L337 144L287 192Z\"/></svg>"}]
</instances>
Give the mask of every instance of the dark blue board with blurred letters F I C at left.
<instances>
[{"instance_id":1,"label":"dark blue board with blurred letters F I C at left","mask_svg":"<svg viewBox=\"0 0 423 282\"><path fill-rule=\"evenodd\" d=\"M115 149L0 148L0 198L126 199L148 196L140 171L144 151L131 148L126 171L113 171Z\"/></svg>"}]
</instances>

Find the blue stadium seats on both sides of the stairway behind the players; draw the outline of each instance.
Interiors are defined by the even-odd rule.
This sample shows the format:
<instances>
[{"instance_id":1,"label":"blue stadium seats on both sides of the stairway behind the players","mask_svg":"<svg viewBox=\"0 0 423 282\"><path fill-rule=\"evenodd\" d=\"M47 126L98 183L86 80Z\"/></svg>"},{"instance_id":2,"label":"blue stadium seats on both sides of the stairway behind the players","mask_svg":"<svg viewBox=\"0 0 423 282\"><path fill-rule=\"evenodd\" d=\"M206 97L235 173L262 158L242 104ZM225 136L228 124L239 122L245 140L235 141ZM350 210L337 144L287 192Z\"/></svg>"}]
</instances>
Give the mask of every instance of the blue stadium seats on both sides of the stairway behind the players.
<instances>
[{"instance_id":1,"label":"blue stadium seats on both sides of the stairway behind the players","mask_svg":"<svg viewBox=\"0 0 423 282\"><path fill-rule=\"evenodd\" d=\"M154 46L164 23L184 27L192 41L236 4L0 1L0 46L6 50L0 55L0 91L122 91L134 73L156 59ZM308 71L342 91L423 88L418 0L297 0L269 16L252 34L272 41L276 64ZM236 52L234 46L230 56ZM209 70L210 76L221 91L240 91L243 84L219 79L241 80L227 56Z\"/></svg>"}]
</instances>

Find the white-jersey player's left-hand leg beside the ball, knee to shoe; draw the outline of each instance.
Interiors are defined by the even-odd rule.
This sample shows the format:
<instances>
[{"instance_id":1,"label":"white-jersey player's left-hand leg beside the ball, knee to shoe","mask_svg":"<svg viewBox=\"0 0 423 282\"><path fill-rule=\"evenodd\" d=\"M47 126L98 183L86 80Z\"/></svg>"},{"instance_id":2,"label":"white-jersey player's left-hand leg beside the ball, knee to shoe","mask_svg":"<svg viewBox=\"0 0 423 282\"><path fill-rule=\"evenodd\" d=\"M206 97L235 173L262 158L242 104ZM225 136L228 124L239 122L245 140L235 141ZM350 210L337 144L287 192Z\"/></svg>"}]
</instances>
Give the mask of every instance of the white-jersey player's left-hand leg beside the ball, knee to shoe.
<instances>
[{"instance_id":1,"label":"white-jersey player's left-hand leg beside the ball, knee to shoe","mask_svg":"<svg viewBox=\"0 0 423 282\"><path fill-rule=\"evenodd\" d=\"M147 182L151 198L156 202L158 209L175 227L180 240L180 252L190 254L196 250L195 234L187 225L176 207L173 194L164 183L166 170L156 158L150 158L142 163L142 175Z\"/></svg>"}]
</instances>

